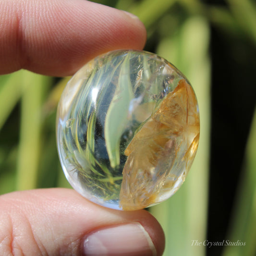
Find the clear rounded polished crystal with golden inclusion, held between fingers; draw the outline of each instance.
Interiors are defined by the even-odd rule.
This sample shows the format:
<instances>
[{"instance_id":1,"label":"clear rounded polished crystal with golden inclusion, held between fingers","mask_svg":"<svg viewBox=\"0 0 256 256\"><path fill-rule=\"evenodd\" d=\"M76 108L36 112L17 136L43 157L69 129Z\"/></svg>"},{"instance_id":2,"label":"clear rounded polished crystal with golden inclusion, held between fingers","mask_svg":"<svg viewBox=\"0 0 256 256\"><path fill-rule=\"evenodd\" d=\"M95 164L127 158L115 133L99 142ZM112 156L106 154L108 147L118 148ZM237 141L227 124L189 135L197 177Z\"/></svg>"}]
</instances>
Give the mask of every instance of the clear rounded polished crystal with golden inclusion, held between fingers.
<instances>
[{"instance_id":1,"label":"clear rounded polished crystal with golden inclusion, held between fingers","mask_svg":"<svg viewBox=\"0 0 256 256\"><path fill-rule=\"evenodd\" d=\"M173 195L195 157L199 111L184 75L153 53L117 50L88 62L58 106L61 166L73 188L114 209Z\"/></svg>"}]
</instances>

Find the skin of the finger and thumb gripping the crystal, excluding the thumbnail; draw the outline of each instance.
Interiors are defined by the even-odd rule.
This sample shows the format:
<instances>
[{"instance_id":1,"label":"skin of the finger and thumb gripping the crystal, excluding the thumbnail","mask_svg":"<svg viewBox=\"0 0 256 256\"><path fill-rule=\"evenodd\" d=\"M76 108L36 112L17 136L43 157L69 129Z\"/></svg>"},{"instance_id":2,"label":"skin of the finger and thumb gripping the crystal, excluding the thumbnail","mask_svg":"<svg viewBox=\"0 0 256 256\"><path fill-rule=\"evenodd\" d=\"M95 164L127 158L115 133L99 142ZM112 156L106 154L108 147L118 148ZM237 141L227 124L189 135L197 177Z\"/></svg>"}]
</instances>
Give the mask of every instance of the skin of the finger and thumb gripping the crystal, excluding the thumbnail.
<instances>
[{"instance_id":1,"label":"skin of the finger and thumb gripping the crystal, excluding the thumbnail","mask_svg":"<svg viewBox=\"0 0 256 256\"><path fill-rule=\"evenodd\" d=\"M101 53L143 49L145 41L137 18L89 1L0 0L0 74L70 75ZM133 222L162 255L163 231L145 210L100 207L70 189L13 192L0 196L0 255L81 255L89 232Z\"/></svg>"}]
</instances>

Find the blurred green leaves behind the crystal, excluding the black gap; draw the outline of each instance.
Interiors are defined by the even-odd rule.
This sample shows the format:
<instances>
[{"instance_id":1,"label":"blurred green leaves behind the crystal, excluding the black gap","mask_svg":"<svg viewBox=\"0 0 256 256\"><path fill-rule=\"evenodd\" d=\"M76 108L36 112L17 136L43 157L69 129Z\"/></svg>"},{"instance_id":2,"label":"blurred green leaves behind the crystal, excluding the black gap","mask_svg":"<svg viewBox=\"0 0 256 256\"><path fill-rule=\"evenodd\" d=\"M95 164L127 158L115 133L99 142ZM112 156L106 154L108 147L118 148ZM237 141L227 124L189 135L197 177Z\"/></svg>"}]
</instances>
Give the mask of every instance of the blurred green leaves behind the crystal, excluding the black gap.
<instances>
[{"instance_id":1,"label":"blurred green leaves behind the crystal, excluding the black gap","mask_svg":"<svg viewBox=\"0 0 256 256\"><path fill-rule=\"evenodd\" d=\"M193 240L207 240L211 204L211 31L219 31L229 42L246 41L256 51L256 4L252 0L227 0L219 5L200 0L96 2L137 15L148 32L145 49L171 61L195 89L201 120L195 162L182 188L150 211L165 231L165 256L214 255L209 246L192 245ZM0 194L38 187L70 187L61 171L55 142L56 107L67 80L56 82L56 78L24 70L0 76ZM241 240L246 245L223 246L223 256L256 255L256 114L244 152L225 239Z\"/></svg>"}]
</instances>

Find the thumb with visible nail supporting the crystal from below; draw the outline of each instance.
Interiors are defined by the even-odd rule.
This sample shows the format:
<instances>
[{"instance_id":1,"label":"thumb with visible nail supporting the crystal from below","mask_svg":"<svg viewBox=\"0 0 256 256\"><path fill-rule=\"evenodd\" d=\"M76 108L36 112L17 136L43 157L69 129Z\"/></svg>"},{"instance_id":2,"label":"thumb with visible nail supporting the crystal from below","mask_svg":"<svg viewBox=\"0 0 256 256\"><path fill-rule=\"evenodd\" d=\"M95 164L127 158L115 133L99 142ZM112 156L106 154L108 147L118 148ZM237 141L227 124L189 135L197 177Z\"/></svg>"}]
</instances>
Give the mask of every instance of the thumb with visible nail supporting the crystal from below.
<instances>
[{"instance_id":1,"label":"thumb with visible nail supporting the crystal from below","mask_svg":"<svg viewBox=\"0 0 256 256\"><path fill-rule=\"evenodd\" d=\"M164 235L147 211L118 211L70 189L0 196L0 255L162 255Z\"/></svg>"}]
</instances>

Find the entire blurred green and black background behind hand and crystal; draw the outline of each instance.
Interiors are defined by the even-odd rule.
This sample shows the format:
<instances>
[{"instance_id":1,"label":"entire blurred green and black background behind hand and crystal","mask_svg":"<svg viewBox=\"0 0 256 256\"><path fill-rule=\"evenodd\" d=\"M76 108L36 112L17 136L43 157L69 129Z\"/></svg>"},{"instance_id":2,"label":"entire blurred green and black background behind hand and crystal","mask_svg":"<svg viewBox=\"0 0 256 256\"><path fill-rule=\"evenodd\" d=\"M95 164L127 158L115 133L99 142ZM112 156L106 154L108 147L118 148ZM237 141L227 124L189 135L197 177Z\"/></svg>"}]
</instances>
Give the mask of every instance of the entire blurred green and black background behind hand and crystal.
<instances>
[{"instance_id":1,"label":"entire blurred green and black background behind hand and crystal","mask_svg":"<svg viewBox=\"0 0 256 256\"><path fill-rule=\"evenodd\" d=\"M145 50L180 69L197 95L192 169L175 195L149 208L166 234L164 255L256 256L256 2L96 2L137 15L147 29ZM70 187L55 140L67 80L27 71L0 76L0 194Z\"/></svg>"}]
</instances>

